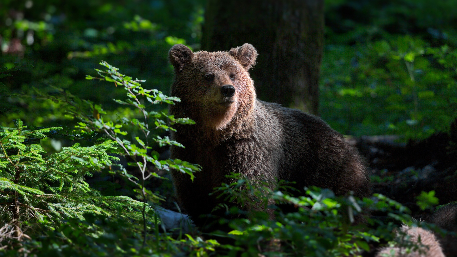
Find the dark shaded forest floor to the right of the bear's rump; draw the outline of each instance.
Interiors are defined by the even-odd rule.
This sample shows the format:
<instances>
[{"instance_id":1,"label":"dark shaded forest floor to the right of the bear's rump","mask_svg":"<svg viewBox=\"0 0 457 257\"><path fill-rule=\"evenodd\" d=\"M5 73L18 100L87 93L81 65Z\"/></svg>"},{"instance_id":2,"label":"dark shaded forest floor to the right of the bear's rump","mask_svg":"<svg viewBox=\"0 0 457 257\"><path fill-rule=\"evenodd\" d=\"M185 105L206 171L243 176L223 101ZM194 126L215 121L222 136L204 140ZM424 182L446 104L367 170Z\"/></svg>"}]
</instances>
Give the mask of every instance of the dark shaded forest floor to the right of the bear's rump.
<instances>
[{"instance_id":1,"label":"dark shaded forest floor to the right of the bear's rump","mask_svg":"<svg viewBox=\"0 0 457 257\"><path fill-rule=\"evenodd\" d=\"M439 204L457 201L457 126L420 141L399 143L395 135L348 139L368 162L372 192L402 203L414 219L428 220L430 210L421 210L417 197L434 190Z\"/></svg>"}]
</instances>

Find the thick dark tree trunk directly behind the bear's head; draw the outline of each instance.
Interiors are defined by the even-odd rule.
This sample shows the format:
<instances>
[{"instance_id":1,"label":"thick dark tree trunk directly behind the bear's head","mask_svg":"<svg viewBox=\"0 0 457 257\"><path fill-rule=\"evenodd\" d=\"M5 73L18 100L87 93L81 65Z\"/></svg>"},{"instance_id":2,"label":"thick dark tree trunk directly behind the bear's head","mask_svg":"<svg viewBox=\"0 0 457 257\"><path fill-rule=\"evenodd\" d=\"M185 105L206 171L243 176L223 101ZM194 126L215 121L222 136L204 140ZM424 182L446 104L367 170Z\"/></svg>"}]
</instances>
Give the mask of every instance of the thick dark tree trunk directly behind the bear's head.
<instances>
[{"instance_id":1,"label":"thick dark tree trunk directly behind the bear's head","mask_svg":"<svg viewBox=\"0 0 457 257\"><path fill-rule=\"evenodd\" d=\"M324 0L208 0L202 50L257 48L257 96L318 114Z\"/></svg>"}]
</instances>

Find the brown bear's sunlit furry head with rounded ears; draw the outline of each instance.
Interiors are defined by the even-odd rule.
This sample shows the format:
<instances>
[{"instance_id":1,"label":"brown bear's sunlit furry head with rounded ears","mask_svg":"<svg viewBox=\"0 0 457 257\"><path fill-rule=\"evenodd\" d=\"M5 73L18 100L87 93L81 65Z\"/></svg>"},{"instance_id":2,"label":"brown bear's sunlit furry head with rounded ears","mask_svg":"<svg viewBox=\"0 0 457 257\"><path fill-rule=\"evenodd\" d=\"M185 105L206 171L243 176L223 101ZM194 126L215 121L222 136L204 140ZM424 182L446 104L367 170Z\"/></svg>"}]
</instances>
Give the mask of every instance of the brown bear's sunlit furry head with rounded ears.
<instances>
[{"instance_id":1,"label":"brown bear's sunlit furry head with rounded ears","mask_svg":"<svg viewBox=\"0 0 457 257\"><path fill-rule=\"evenodd\" d=\"M189 117L205 129L222 130L241 124L253 112L255 89L248 70L257 51L251 44L228 52L195 53L177 44L169 58L175 67L171 96L181 98L170 106L170 114Z\"/></svg>"}]
</instances>

